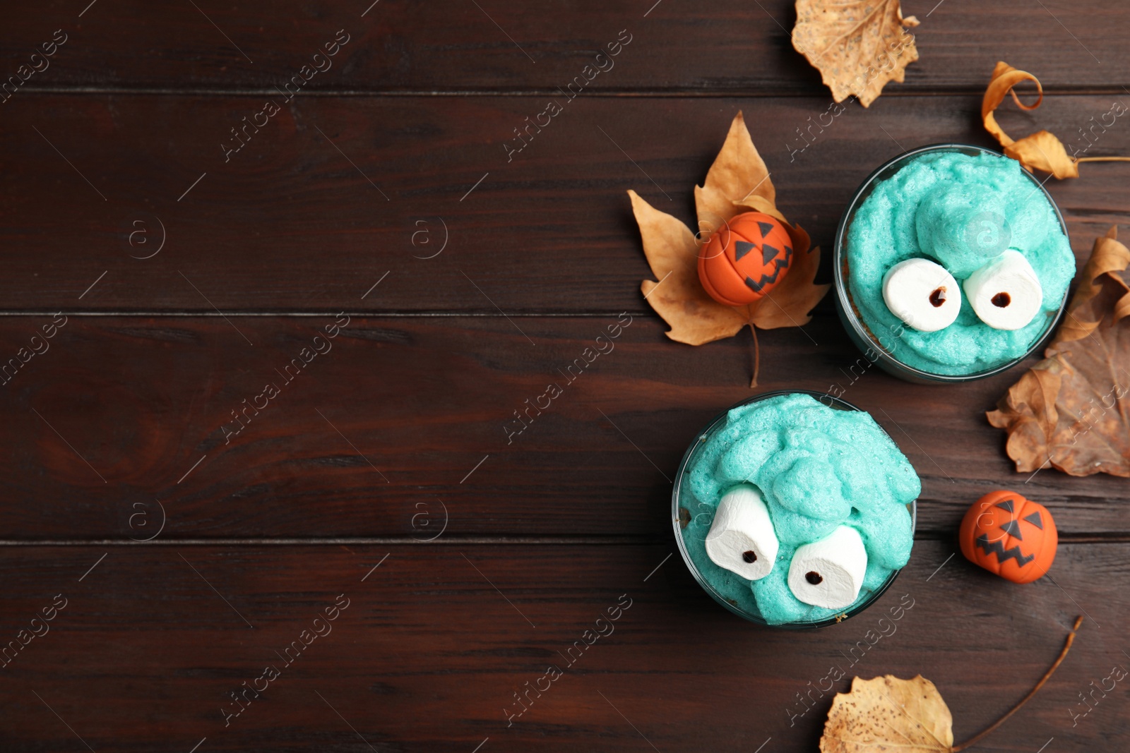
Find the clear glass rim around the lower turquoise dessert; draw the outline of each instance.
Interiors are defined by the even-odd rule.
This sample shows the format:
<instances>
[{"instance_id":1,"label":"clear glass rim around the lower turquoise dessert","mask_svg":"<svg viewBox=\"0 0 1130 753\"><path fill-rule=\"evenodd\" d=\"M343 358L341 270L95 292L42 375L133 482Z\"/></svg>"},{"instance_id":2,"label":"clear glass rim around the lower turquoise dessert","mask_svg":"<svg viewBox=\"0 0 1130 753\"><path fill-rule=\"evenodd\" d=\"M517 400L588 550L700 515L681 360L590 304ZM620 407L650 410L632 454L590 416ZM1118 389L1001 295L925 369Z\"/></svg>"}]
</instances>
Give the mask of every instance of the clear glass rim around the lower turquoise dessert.
<instances>
[{"instance_id":1,"label":"clear glass rim around the lower turquoise dessert","mask_svg":"<svg viewBox=\"0 0 1130 753\"><path fill-rule=\"evenodd\" d=\"M690 575L693 575L695 580L698 581L698 585L703 587L703 590L710 594L715 602L721 604L723 607L725 607L733 614L737 614L739 618L742 618L744 620L747 620L755 624L765 625L767 628L783 629L783 630L812 630L816 628L826 628L828 625L834 625L840 622L844 622L846 620L850 620L854 615L859 614L867 607L869 607L871 604L876 602L876 599L883 596L883 594L887 590L887 588L890 587L890 584L895 581L895 578L898 577L898 573L902 572L902 569L893 571L883 583L881 586L871 592L871 595L866 601L861 602L860 604L857 604L850 610L841 612L838 615L833 615L831 618L825 618L823 620L815 620L815 621L784 622L781 624L770 624L763 618L755 614L750 614L741 608L738 608L730 602L725 601L725 597L722 596L722 594L720 594L706 580L706 578L703 577L703 575L698 571L698 568L695 567L694 560L690 559L690 553L687 551L686 542L684 542L683 540L683 527L679 520L679 491L683 489L683 478L686 474L687 463L689 463L690 456L694 455L695 449L697 449L698 446L702 444L704 437L709 436L711 431L713 431L721 421L724 421L727 414L729 414L729 412L732 411L733 409L740 408L742 405L748 405L749 403L756 403L763 400L768 400L770 397L779 397L781 395L809 395L818 400L820 403L827 405L828 408L834 408L836 410L842 410L842 411L864 412L863 409L849 403L846 400L843 400L841 397L835 397L827 393L815 392L812 389L775 389L773 392L766 392L759 395L753 395L751 397L747 397L746 400L742 400L740 402L734 403L733 405L730 405L730 408L725 409L724 411L721 411L718 415L711 419L710 423L707 423L702 430L695 432L694 440L690 443L690 446L687 447L687 450L683 454L683 459L679 462L679 470L678 473L676 473L675 475L675 483L672 485L672 491L671 491L671 524L675 532L675 542L676 544L678 544L679 554L683 557L683 562L687 566L687 569L690 570ZM879 428L883 429L883 427ZM886 434L885 429L884 434ZM889 435L887 436L889 437ZM894 441L894 439L892 439L892 441ZM918 500L912 501L907 507L910 507L911 511L911 535L913 536L914 531L918 527Z\"/></svg>"}]
</instances>

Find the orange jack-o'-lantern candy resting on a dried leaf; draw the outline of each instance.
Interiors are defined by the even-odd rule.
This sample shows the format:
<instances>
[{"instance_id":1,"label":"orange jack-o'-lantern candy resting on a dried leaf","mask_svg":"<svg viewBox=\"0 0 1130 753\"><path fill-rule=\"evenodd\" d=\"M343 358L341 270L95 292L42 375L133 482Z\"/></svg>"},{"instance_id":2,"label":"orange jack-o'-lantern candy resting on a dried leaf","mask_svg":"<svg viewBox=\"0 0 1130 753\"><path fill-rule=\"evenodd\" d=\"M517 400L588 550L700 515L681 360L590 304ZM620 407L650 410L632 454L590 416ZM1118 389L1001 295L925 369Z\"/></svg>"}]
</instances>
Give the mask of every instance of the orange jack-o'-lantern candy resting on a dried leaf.
<instances>
[{"instance_id":1,"label":"orange jack-o'-lantern candy resting on a dried leaf","mask_svg":"<svg viewBox=\"0 0 1130 753\"><path fill-rule=\"evenodd\" d=\"M792 260L792 238L764 212L744 212L698 249L698 279L727 306L753 304L781 282Z\"/></svg>"}]
</instances>

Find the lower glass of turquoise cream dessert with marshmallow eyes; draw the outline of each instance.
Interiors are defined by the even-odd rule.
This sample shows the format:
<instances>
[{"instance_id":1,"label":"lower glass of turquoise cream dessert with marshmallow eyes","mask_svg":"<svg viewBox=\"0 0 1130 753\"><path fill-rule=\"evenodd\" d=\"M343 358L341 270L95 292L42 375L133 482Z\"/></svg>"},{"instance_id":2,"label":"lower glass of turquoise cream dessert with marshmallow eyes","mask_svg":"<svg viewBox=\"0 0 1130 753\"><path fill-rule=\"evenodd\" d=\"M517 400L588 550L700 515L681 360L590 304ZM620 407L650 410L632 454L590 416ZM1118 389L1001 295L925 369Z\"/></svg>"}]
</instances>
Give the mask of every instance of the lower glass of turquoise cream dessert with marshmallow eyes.
<instances>
[{"instance_id":1,"label":"lower glass of turquoise cream dessert with marshmallow eyes","mask_svg":"<svg viewBox=\"0 0 1130 753\"><path fill-rule=\"evenodd\" d=\"M905 566L920 490L867 412L772 392L698 432L671 518L684 562L719 604L758 624L822 628L866 610Z\"/></svg>"}]
</instances>

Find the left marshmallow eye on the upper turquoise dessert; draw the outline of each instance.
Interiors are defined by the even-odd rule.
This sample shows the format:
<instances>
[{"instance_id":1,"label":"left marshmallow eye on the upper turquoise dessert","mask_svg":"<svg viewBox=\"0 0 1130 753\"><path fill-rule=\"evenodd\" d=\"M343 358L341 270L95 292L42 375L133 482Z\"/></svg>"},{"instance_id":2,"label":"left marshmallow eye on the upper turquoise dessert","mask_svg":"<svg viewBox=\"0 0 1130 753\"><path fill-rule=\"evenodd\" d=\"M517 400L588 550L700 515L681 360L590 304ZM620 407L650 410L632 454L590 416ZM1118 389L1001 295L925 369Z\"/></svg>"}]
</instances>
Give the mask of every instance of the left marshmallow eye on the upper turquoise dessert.
<instances>
[{"instance_id":1,"label":"left marshmallow eye on the upper turquoise dessert","mask_svg":"<svg viewBox=\"0 0 1130 753\"><path fill-rule=\"evenodd\" d=\"M945 330L962 310L954 275L929 259L907 259L883 275L883 300L890 313L919 332Z\"/></svg>"}]
</instances>

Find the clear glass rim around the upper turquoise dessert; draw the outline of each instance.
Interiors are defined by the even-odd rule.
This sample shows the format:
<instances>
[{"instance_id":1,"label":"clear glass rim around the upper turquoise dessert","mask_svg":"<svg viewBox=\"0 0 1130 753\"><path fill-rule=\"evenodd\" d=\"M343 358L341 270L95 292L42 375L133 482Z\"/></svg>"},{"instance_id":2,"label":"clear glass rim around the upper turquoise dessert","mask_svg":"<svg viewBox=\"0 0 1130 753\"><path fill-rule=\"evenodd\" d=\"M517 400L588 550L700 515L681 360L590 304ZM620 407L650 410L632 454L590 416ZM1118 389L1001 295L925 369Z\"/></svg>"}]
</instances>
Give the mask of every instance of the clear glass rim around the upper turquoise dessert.
<instances>
[{"instance_id":1,"label":"clear glass rim around the upper turquoise dessert","mask_svg":"<svg viewBox=\"0 0 1130 753\"><path fill-rule=\"evenodd\" d=\"M986 377L996 376L1003 371L1009 370L1020 361L1024 361L1033 353L1042 350L1043 347L1051 339L1052 333L1055 327L1059 326L1060 321L1063 318L1063 313L1067 310L1068 296L1070 295L1070 286L1068 290L1063 292L1063 300L1060 301L1059 308L1055 310L1054 316L1049 317L1048 326L1044 329L1043 333L1036 338L1032 347L1024 352L1024 354L1014 358L1003 364L999 364L989 369L982 371L974 371L973 374L936 374L933 371L923 371L922 369L910 366L904 362L897 356L892 353L887 348L885 348L877 338L871 334L870 327L862 322L861 317L855 313L855 305L852 301L851 292L847 288L847 281L843 277L843 265L844 265L844 238L847 234L847 226L850 219L854 217L855 210L866 200L871 190L875 187L876 182L879 176L890 170L893 167L899 163L904 163L913 157L918 157L923 154L938 152L938 151L958 151L962 154L988 154L997 157L1006 158L1000 151L994 149L988 149L985 147L977 147L968 143L931 143L924 147L919 147L916 149L911 149L904 151L901 155L892 157L887 161L883 163L879 167L875 168L870 175L860 184L859 189L852 195L851 201L847 203L844 213L840 218L840 225L836 227L836 235L832 247L832 274L834 287L836 289L836 303L840 306L840 312L843 314L843 318L850 324L851 329L854 331L855 335L860 338L863 342L868 343L872 350L877 353L878 359L885 361L886 364L894 366L899 371L904 371L912 378L919 382L939 382L939 383L960 383L960 382L973 382L975 379L984 379ZM1043 193L1044 198L1052 207L1052 211L1055 212L1055 219L1059 220L1060 229L1063 231L1064 237L1070 238L1067 230L1067 222L1063 220L1063 214L1060 212L1059 204L1052 199L1052 195L1048 192L1048 189L1035 178L1027 170L1024 174L1032 181Z\"/></svg>"}]
</instances>

